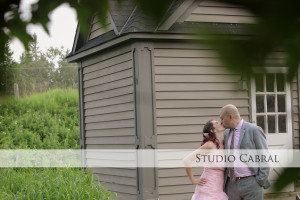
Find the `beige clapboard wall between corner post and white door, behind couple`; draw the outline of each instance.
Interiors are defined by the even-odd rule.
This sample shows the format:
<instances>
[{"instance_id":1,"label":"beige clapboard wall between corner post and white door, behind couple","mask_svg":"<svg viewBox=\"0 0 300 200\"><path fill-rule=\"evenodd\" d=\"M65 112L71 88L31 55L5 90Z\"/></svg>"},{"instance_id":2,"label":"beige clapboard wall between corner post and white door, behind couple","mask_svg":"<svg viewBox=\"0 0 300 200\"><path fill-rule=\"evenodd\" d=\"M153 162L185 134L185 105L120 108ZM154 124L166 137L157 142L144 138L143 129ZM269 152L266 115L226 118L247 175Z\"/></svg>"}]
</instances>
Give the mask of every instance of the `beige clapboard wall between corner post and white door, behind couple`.
<instances>
[{"instance_id":1,"label":"beige clapboard wall between corner post and white door, behind couple","mask_svg":"<svg viewBox=\"0 0 300 200\"><path fill-rule=\"evenodd\" d=\"M248 91L238 90L240 75L222 67L215 51L164 46L154 48L158 149L198 148L203 125L218 120L220 108L228 103L249 121ZM200 175L201 170L195 170ZM159 169L158 177L159 199L191 198L195 186L184 169Z\"/></svg>"}]
</instances>

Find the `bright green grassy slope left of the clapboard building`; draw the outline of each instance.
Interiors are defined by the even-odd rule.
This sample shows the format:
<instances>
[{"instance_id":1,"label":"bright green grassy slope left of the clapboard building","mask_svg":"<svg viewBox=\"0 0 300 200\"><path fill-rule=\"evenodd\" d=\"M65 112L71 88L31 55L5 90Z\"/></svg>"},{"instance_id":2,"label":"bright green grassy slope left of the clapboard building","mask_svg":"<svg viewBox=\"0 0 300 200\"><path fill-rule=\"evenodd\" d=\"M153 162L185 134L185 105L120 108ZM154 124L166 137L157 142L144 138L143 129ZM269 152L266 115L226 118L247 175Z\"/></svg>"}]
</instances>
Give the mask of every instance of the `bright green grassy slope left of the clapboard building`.
<instances>
[{"instance_id":1,"label":"bright green grassy slope left of the clapboard building","mask_svg":"<svg viewBox=\"0 0 300 200\"><path fill-rule=\"evenodd\" d=\"M78 92L0 99L1 149L79 149ZM115 199L80 168L0 168L1 200Z\"/></svg>"}]
</instances>

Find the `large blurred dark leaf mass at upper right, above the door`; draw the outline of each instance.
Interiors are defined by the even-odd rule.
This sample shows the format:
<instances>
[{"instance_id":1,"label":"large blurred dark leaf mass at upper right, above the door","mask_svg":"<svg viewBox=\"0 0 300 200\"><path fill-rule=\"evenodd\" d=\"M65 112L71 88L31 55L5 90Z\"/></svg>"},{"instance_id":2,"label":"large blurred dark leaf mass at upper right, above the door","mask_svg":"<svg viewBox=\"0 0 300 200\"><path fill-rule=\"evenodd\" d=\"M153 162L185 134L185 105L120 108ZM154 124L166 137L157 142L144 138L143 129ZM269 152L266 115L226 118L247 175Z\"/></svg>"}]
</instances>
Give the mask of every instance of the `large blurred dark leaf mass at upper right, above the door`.
<instances>
[{"instance_id":1,"label":"large blurred dark leaf mass at upper right, above the door","mask_svg":"<svg viewBox=\"0 0 300 200\"><path fill-rule=\"evenodd\" d=\"M253 75L254 67L264 71L268 56L274 52L283 55L279 66L288 67L288 81L296 75L300 64L300 2L296 0L220 0L245 8L256 21L244 24L243 37L217 29L205 29L200 36L217 49L225 67L239 73ZM273 67L273 66L272 66Z\"/></svg>"}]
</instances>

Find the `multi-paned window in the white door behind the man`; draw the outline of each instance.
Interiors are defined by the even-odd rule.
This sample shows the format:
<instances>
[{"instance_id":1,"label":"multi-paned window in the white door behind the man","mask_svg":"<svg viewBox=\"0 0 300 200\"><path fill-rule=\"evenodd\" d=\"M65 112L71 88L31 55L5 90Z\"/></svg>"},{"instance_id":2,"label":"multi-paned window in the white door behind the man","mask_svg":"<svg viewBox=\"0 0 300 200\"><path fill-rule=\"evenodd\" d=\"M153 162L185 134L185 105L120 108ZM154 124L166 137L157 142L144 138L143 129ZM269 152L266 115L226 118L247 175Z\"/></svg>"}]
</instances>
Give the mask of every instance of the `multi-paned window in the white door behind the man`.
<instances>
[{"instance_id":1,"label":"multi-paned window in the white door behind the man","mask_svg":"<svg viewBox=\"0 0 300 200\"><path fill-rule=\"evenodd\" d=\"M252 80L253 120L266 134L288 132L287 87L283 73L256 74Z\"/></svg>"}]
</instances>

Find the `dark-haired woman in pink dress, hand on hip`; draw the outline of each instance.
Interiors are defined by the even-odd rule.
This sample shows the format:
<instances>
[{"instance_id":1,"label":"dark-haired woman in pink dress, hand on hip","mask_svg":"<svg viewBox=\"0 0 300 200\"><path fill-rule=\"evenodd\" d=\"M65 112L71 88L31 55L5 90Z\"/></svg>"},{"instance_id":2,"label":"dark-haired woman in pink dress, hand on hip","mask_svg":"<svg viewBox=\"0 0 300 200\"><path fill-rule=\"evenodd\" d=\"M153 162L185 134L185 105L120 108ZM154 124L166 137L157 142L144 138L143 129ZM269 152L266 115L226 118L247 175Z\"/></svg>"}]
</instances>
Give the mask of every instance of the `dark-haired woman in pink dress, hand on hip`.
<instances>
[{"instance_id":1,"label":"dark-haired woman in pink dress, hand on hip","mask_svg":"<svg viewBox=\"0 0 300 200\"><path fill-rule=\"evenodd\" d=\"M204 164L200 178L195 178L192 172L192 162L199 152L224 149L224 127L215 120L208 121L203 127L203 143L201 147L184 158L186 173L193 184L196 184L192 200L228 200L223 191L225 163L214 163L213 167ZM199 158L199 157L198 157Z\"/></svg>"}]
</instances>

